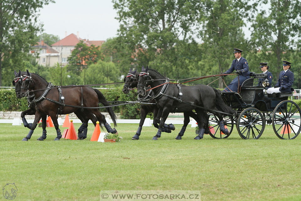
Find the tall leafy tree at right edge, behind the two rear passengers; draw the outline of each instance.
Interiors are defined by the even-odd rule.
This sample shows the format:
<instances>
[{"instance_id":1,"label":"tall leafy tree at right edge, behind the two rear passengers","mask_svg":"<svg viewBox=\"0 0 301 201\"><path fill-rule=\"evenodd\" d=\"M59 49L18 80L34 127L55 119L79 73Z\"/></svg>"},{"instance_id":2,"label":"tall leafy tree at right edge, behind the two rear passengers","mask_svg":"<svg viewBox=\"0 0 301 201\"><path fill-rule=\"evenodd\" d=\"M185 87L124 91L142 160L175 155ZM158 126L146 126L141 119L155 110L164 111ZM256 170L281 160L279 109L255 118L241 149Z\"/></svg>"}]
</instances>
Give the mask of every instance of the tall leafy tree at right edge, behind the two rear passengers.
<instances>
[{"instance_id":1,"label":"tall leafy tree at right edge, behind the two rear passengers","mask_svg":"<svg viewBox=\"0 0 301 201\"><path fill-rule=\"evenodd\" d=\"M298 0L262 0L259 6L268 2L271 8L268 11L258 9L252 20L251 42L262 52L261 61L268 62L276 83L282 61L288 60L297 49L296 38L301 36L301 4Z\"/></svg>"}]
</instances>

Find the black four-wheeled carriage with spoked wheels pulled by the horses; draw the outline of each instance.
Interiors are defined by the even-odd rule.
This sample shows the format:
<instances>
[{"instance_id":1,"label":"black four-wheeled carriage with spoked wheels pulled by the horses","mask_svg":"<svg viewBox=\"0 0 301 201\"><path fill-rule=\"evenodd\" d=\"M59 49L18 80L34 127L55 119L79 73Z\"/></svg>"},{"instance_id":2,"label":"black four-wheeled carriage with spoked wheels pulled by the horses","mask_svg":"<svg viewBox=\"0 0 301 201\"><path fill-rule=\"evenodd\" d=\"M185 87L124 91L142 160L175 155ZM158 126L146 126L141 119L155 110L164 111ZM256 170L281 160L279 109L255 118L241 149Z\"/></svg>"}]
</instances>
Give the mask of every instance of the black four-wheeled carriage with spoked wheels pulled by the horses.
<instances>
[{"instance_id":1,"label":"black four-wheeled carriage with spoked wheels pulled by the horses","mask_svg":"<svg viewBox=\"0 0 301 201\"><path fill-rule=\"evenodd\" d=\"M242 83L240 93L220 92L224 102L235 109L237 115L224 117L224 124L229 130L229 135L224 135L218 129L218 118L210 114L210 136L227 138L236 127L242 139L259 139L266 124L272 124L278 138L295 139L301 130L301 110L295 102L288 100L293 96L293 88L292 92L281 92L276 98L270 98L265 92L267 80L258 80L265 79L267 74L251 72L250 77Z\"/></svg>"}]
</instances>

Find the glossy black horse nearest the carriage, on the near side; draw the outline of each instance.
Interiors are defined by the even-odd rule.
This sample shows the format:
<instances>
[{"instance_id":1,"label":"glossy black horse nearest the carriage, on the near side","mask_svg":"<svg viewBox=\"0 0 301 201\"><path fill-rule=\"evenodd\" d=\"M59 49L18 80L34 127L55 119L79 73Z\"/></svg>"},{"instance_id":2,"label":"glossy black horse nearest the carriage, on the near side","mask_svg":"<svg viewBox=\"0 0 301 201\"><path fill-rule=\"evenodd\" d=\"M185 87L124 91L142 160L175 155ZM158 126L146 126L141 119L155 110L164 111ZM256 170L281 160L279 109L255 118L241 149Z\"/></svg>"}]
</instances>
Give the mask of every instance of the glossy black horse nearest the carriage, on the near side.
<instances>
[{"instance_id":1,"label":"glossy black horse nearest the carriage, on the near side","mask_svg":"<svg viewBox=\"0 0 301 201\"><path fill-rule=\"evenodd\" d=\"M165 84L164 84L165 83ZM209 115L207 111L212 112L219 118L220 130L229 134L228 129L224 127L223 114L234 114L235 110L227 106L219 91L207 85L187 86L182 84L168 84L168 78L161 75L154 69L142 67L138 78L138 93L143 94L150 85L155 94L157 105L162 110L161 121L157 134L153 139L161 137L161 128L170 112L189 112L195 110L200 122L198 126L200 133L194 139L202 139L205 129L208 127ZM200 108L201 107L201 108ZM204 110L204 108L206 110ZM221 112L222 113L221 113Z\"/></svg>"}]
</instances>

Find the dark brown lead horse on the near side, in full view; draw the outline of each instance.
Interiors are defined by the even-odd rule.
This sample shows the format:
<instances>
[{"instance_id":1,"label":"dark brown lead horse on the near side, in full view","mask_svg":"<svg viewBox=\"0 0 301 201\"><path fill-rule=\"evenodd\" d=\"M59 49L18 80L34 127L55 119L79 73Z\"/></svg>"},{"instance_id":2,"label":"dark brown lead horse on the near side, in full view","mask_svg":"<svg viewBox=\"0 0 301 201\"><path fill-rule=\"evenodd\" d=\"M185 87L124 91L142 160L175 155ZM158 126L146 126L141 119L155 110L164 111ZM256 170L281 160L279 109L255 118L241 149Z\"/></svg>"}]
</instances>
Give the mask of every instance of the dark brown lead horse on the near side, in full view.
<instances>
[{"instance_id":1,"label":"dark brown lead horse on the near side, in full view","mask_svg":"<svg viewBox=\"0 0 301 201\"><path fill-rule=\"evenodd\" d=\"M62 135L56 118L58 112L60 114L70 114L72 112L77 115L80 114L78 117L83 117L81 120L85 123L81 126L83 127L83 130L86 130L87 128L88 120L95 119L96 116L97 120L104 125L108 132L117 133L116 129L111 128L106 122L104 115L101 114L98 109L98 101L104 106L109 106L105 97L99 90L94 90L87 86L53 87L51 83L48 83L40 75L29 73L29 71L26 70L26 74L24 74L22 78L20 94L23 97L27 96L30 90L33 90L34 96L39 98L36 98L33 101L37 111L35 112L33 126L28 135L24 138L24 141L30 139L42 114L51 117L57 133L55 140L59 140ZM60 103L59 99L64 100L64 103ZM110 107L107 108L107 111L116 126L114 111ZM96 122L93 123L96 125ZM102 124L100 124L100 126L102 126Z\"/></svg>"}]
</instances>

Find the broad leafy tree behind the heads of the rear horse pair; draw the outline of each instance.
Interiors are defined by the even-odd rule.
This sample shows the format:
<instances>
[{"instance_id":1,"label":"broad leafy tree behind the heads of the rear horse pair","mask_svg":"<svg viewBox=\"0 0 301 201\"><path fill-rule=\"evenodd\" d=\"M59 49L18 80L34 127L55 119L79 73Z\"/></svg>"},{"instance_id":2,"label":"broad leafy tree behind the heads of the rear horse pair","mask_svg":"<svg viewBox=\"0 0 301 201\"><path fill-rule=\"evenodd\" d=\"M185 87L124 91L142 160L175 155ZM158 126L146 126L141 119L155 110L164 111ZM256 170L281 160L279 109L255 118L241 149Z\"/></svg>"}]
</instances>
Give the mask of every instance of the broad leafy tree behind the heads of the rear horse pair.
<instances>
[{"instance_id":1,"label":"broad leafy tree behind the heads of the rear horse pair","mask_svg":"<svg viewBox=\"0 0 301 201\"><path fill-rule=\"evenodd\" d=\"M141 68L151 61L162 64L156 65L161 72L175 69L178 66L175 46L192 41L200 17L200 1L113 0L113 3L120 22L118 38L131 53L133 65Z\"/></svg>"}]
</instances>

